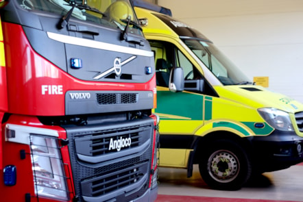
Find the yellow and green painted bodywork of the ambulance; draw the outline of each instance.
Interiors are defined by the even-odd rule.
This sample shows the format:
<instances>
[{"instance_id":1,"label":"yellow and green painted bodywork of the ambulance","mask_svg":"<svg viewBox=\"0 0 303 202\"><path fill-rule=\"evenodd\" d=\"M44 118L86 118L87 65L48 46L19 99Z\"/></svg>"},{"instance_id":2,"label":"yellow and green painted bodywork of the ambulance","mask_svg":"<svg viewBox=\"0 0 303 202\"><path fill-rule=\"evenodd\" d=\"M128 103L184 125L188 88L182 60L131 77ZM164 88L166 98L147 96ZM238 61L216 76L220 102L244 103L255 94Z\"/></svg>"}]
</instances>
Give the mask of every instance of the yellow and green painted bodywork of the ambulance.
<instances>
[{"instance_id":1,"label":"yellow and green painted bodywork of the ambulance","mask_svg":"<svg viewBox=\"0 0 303 202\"><path fill-rule=\"evenodd\" d=\"M171 53L167 45L170 45L178 50L178 53L188 60L187 64L196 68L205 80L209 79L209 75L214 77L215 73L207 73L209 69L202 61L199 61L197 55L189 47L186 47L169 22L166 24L157 18L160 14L142 8L135 8L135 11L138 18L148 19L148 25L143 27L143 33L151 43L151 50L155 53L155 62L158 59L169 60ZM169 67L176 66L178 64ZM162 69L158 71L166 72ZM184 76L187 73L189 72L184 72ZM261 86L214 83L216 85L209 85L215 91L215 95L190 90L170 92L168 86L157 86L155 112L160 116L160 144L161 136L166 138L165 147L160 145L160 166L187 168L191 151L196 149L193 146L196 143L194 141L200 137L224 133L239 138L270 136L275 129L259 114L260 108L275 108L287 112L291 118L294 133L298 138L303 137L303 132L298 129L295 119L295 113L303 112L302 103L283 94L270 92ZM186 146L180 146L183 142L177 142L176 147L175 145L167 146L172 145L170 140L178 139L180 136L188 141L184 142ZM182 138L178 140L182 141Z\"/></svg>"}]
</instances>

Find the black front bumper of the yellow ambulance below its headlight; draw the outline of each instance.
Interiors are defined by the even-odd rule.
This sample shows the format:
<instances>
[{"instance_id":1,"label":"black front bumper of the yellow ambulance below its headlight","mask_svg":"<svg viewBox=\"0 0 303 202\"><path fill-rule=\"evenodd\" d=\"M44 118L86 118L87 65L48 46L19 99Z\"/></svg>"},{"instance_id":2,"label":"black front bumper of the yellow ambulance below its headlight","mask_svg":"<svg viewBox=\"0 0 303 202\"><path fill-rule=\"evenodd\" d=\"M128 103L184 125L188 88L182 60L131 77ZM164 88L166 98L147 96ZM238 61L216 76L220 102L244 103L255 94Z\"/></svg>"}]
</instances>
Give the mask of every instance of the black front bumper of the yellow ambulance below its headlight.
<instances>
[{"instance_id":1,"label":"black front bumper of the yellow ambulance below its headlight","mask_svg":"<svg viewBox=\"0 0 303 202\"><path fill-rule=\"evenodd\" d=\"M289 131L252 138L253 160L262 172L278 171L303 162L303 138Z\"/></svg>"}]
</instances>

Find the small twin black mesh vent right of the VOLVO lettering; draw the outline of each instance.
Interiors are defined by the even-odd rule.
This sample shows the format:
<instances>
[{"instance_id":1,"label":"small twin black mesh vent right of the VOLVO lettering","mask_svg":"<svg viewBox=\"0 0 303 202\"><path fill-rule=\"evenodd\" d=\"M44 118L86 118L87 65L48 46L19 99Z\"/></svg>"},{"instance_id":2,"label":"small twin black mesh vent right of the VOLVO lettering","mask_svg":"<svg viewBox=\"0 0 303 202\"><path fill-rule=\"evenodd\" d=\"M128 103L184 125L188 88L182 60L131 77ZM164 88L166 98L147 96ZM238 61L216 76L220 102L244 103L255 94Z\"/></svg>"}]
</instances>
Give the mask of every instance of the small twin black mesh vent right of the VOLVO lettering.
<instances>
[{"instance_id":1,"label":"small twin black mesh vent right of the VOLVO lettering","mask_svg":"<svg viewBox=\"0 0 303 202\"><path fill-rule=\"evenodd\" d=\"M97 93L99 105L134 104L138 102L137 93Z\"/></svg>"}]
</instances>

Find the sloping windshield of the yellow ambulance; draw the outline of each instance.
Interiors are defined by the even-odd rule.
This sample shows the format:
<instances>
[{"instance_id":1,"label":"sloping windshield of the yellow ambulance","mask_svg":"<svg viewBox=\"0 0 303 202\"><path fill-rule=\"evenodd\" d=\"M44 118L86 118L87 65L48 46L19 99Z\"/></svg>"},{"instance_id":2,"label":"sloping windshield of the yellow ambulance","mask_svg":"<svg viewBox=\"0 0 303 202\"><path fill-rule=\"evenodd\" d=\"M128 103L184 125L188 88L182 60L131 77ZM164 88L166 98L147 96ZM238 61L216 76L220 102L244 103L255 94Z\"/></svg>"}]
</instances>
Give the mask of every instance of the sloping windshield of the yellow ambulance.
<instances>
[{"instance_id":1,"label":"sloping windshield of the yellow ambulance","mask_svg":"<svg viewBox=\"0 0 303 202\"><path fill-rule=\"evenodd\" d=\"M252 84L212 42L188 38L182 40L223 85Z\"/></svg>"}]
</instances>

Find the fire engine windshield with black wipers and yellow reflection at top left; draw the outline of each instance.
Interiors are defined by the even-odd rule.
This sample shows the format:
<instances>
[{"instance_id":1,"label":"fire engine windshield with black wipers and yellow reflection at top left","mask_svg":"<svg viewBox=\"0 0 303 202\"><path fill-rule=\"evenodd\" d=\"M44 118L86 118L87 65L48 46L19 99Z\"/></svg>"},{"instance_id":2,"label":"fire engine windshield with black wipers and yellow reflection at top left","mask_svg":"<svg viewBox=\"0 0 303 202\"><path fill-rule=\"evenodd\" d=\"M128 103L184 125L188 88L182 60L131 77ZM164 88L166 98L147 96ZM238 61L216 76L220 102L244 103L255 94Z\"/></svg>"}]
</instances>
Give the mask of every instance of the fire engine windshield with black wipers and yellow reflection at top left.
<instances>
[{"instance_id":1,"label":"fire engine windshield with black wipers and yellow reflection at top left","mask_svg":"<svg viewBox=\"0 0 303 202\"><path fill-rule=\"evenodd\" d=\"M49 12L70 18L105 25L141 34L141 27L129 0L17 0L19 5L33 12ZM63 25L62 25L63 27Z\"/></svg>"}]
</instances>

